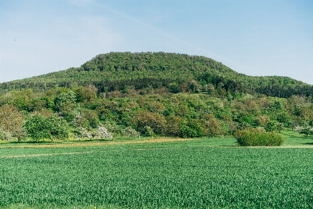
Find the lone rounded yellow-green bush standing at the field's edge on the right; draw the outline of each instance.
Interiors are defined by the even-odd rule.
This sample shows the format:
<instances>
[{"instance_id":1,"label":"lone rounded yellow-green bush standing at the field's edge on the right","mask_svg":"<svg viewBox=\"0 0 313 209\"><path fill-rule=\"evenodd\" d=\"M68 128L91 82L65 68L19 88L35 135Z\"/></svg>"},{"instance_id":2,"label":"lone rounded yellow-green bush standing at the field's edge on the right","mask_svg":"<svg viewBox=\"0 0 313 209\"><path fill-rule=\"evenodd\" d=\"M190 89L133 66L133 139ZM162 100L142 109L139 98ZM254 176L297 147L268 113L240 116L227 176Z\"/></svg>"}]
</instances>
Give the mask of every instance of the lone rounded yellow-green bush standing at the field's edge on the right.
<instances>
[{"instance_id":1,"label":"lone rounded yellow-green bush standing at the field's edge on the right","mask_svg":"<svg viewBox=\"0 0 313 209\"><path fill-rule=\"evenodd\" d=\"M235 134L239 146L280 146L284 142L282 136L275 132L265 132L258 128L239 130Z\"/></svg>"}]
</instances>

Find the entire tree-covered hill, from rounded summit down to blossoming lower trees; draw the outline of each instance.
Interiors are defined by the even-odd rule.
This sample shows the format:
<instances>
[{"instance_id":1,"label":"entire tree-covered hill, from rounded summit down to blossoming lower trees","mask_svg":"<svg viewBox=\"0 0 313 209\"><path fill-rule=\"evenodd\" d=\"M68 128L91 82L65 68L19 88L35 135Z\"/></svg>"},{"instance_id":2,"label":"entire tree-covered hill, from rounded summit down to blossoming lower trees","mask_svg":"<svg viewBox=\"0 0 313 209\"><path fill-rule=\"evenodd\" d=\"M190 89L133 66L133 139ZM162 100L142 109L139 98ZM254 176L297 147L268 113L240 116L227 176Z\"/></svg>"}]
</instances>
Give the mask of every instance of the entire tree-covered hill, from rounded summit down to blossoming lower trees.
<instances>
[{"instance_id":1,"label":"entire tree-covered hill, from rounded summit down to blossoming lower trees","mask_svg":"<svg viewBox=\"0 0 313 209\"><path fill-rule=\"evenodd\" d=\"M313 86L251 77L204 56L99 54L80 68L0 84L0 139L312 134Z\"/></svg>"}]
</instances>

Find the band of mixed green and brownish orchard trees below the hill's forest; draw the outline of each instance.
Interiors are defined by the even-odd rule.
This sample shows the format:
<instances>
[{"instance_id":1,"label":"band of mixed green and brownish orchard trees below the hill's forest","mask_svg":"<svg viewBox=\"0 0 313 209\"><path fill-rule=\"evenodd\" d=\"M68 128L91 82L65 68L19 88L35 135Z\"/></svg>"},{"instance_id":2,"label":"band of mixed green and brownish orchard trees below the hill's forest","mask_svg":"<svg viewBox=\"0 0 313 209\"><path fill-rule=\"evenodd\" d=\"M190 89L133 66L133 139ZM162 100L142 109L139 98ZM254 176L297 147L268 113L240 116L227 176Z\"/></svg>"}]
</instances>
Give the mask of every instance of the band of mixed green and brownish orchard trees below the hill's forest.
<instances>
[{"instance_id":1,"label":"band of mixed green and brownish orchard trees below the hill's forest","mask_svg":"<svg viewBox=\"0 0 313 209\"><path fill-rule=\"evenodd\" d=\"M198 83L119 91L99 91L94 85L31 89L0 96L0 139L114 139L114 137L212 137L259 128L292 130L312 135L313 99L223 91Z\"/></svg>"}]
</instances>

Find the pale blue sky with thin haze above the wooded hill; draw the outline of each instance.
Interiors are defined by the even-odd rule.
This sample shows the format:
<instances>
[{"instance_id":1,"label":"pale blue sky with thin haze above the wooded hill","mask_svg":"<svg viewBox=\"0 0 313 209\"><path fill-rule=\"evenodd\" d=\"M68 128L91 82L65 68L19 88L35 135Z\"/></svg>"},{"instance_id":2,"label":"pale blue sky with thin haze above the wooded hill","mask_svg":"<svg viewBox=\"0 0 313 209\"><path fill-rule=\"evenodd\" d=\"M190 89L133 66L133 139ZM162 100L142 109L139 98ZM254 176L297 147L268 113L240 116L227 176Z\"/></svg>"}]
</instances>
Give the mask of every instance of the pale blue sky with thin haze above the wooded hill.
<instances>
[{"instance_id":1,"label":"pale blue sky with thin haze above the wooded hill","mask_svg":"<svg viewBox=\"0 0 313 209\"><path fill-rule=\"evenodd\" d=\"M313 0L0 0L0 36L0 82L97 54L175 52L313 84Z\"/></svg>"}]
</instances>

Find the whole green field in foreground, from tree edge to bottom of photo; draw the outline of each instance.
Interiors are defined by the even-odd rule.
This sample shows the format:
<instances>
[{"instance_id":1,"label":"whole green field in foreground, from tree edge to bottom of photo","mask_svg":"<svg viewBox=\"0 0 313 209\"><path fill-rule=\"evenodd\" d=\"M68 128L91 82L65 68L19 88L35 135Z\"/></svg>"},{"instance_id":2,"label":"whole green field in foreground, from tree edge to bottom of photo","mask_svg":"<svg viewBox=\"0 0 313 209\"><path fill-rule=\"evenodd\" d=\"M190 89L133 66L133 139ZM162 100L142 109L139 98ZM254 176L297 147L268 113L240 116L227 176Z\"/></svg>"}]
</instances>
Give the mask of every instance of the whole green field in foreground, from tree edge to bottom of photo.
<instances>
[{"instance_id":1,"label":"whole green field in foreground, from tree edge to bottom of photo","mask_svg":"<svg viewBox=\"0 0 313 209\"><path fill-rule=\"evenodd\" d=\"M6 144L0 208L313 208L312 139L300 140Z\"/></svg>"}]
</instances>

